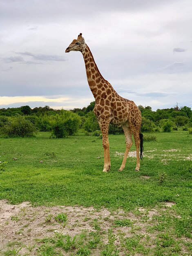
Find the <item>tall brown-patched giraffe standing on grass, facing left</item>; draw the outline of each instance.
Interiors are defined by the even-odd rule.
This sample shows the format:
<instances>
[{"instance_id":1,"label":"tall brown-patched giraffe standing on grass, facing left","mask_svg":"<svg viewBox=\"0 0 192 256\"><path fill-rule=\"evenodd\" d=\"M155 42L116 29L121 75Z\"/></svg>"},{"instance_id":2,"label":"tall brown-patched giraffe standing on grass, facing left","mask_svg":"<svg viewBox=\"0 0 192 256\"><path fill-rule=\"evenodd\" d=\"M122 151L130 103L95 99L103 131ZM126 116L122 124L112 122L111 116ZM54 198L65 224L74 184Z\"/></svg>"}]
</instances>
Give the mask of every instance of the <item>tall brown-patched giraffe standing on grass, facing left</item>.
<instances>
[{"instance_id":1,"label":"tall brown-patched giraffe standing on grass, facing left","mask_svg":"<svg viewBox=\"0 0 192 256\"><path fill-rule=\"evenodd\" d=\"M109 156L109 139L108 130L109 123L117 126L122 126L125 133L126 149L123 157L123 162L118 171L123 171L125 168L127 155L131 148L132 134L136 145L136 168L139 171L139 145L140 158L143 157L143 135L141 134L141 112L134 103L128 99L122 98L114 90L112 85L103 78L94 61L92 52L85 43L85 40L80 33L77 39L67 47L65 52L80 51L83 54L85 61L85 69L89 88L95 98L94 113L97 117L100 130L102 132L103 149L104 149L104 167L103 172L110 169L111 162ZM140 143L141 142L141 143Z\"/></svg>"}]
</instances>

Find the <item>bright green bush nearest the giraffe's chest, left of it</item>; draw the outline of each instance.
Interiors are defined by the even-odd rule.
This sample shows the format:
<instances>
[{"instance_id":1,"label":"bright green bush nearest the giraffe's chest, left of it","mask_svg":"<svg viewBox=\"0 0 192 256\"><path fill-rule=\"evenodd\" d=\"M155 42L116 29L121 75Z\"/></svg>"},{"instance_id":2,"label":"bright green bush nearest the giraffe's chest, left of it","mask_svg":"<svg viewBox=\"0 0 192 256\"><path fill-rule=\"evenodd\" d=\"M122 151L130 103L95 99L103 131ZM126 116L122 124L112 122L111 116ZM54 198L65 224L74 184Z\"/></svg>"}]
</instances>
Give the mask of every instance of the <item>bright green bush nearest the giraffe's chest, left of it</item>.
<instances>
[{"instance_id":1,"label":"bright green bush nearest the giraffe's chest, left of it","mask_svg":"<svg viewBox=\"0 0 192 256\"><path fill-rule=\"evenodd\" d=\"M67 110L61 110L60 114L57 114L52 119L52 135L56 138L64 138L68 135L74 135L79 126L80 117Z\"/></svg>"}]
</instances>

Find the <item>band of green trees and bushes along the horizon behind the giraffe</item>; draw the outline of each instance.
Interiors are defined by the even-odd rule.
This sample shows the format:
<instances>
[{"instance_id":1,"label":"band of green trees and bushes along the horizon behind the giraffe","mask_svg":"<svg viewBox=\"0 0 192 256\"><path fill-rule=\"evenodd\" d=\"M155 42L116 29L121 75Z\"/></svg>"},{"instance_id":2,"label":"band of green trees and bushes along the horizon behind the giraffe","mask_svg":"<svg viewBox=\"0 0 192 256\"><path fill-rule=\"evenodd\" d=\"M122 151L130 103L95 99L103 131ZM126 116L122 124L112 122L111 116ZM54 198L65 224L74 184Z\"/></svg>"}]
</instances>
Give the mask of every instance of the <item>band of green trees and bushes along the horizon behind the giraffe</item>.
<instances>
[{"instance_id":1,"label":"band of green trees and bushes along the horizon behind the giraffe","mask_svg":"<svg viewBox=\"0 0 192 256\"><path fill-rule=\"evenodd\" d=\"M34 132L49 131L52 137L63 138L74 135L78 129L86 134L94 132L100 136L99 125L93 109L95 101L87 107L72 110L54 110L49 106L0 109L0 134L7 137L31 137ZM142 132L171 132L181 128L192 130L192 110L187 106L157 109L139 105L142 114ZM109 125L109 134L121 134L123 129Z\"/></svg>"}]
</instances>

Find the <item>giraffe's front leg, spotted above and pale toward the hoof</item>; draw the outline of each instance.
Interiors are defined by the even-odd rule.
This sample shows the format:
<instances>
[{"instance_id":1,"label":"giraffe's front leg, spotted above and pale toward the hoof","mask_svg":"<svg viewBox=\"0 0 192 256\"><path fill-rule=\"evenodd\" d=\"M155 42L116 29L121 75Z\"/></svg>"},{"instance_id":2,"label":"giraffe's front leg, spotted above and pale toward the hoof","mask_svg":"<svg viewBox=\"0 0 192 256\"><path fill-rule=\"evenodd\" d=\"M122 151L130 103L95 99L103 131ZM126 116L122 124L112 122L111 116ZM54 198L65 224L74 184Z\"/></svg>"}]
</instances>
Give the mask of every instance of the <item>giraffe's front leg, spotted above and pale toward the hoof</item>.
<instances>
[{"instance_id":1,"label":"giraffe's front leg, spotted above and pale toward the hoof","mask_svg":"<svg viewBox=\"0 0 192 256\"><path fill-rule=\"evenodd\" d=\"M103 139L103 149L104 149L104 167L103 172L109 171L111 167L110 155L109 155L109 138L108 138L108 130L109 130L109 120L99 120L100 130L102 132Z\"/></svg>"}]
</instances>

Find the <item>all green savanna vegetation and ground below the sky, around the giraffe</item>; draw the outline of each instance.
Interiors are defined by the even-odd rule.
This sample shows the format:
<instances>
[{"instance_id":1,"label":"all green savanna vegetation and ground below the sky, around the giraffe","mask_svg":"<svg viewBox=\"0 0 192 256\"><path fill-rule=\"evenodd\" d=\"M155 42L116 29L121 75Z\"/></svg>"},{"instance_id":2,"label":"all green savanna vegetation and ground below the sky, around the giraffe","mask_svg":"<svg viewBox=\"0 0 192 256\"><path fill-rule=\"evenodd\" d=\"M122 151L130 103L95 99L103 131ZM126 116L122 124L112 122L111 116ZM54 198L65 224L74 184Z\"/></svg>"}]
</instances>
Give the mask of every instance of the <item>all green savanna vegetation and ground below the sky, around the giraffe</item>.
<instances>
[{"instance_id":1,"label":"all green savanna vegetation and ground below the sky, around the giraffe","mask_svg":"<svg viewBox=\"0 0 192 256\"><path fill-rule=\"evenodd\" d=\"M0 255L191 255L190 108L139 106L140 172L134 145L118 172L125 139L110 126L109 173L93 108L0 110L0 200L32 205L1 219Z\"/></svg>"}]
</instances>

